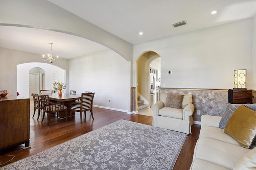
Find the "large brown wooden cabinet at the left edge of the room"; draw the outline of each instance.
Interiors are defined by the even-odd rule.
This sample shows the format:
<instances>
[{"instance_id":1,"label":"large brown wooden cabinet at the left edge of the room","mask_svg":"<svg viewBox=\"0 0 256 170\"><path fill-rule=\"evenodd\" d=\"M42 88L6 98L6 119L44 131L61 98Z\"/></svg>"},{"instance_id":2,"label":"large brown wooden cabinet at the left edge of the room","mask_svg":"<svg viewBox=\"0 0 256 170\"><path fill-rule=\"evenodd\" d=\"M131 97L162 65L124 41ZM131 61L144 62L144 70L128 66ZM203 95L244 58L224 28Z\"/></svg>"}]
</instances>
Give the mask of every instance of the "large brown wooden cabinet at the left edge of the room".
<instances>
[{"instance_id":1,"label":"large brown wooden cabinet at the left edge of the room","mask_svg":"<svg viewBox=\"0 0 256 170\"><path fill-rule=\"evenodd\" d=\"M25 143L29 147L30 99L7 96L0 98L0 149Z\"/></svg>"}]
</instances>

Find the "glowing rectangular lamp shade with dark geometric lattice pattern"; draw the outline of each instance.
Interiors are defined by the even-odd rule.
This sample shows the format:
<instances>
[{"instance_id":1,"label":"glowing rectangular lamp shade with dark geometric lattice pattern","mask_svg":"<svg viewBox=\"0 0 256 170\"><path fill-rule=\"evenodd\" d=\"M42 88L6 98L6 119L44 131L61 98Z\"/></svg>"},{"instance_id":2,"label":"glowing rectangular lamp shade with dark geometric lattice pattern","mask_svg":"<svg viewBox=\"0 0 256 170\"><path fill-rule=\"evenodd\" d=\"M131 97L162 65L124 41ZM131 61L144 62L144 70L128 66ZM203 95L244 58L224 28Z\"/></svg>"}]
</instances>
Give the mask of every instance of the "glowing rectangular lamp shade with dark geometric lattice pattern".
<instances>
[{"instance_id":1,"label":"glowing rectangular lamp shade with dark geometric lattice pattern","mask_svg":"<svg viewBox=\"0 0 256 170\"><path fill-rule=\"evenodd\" d=\"M246 70L234 70L234 89L246 89Z\"/></svg>"}]
</instances>

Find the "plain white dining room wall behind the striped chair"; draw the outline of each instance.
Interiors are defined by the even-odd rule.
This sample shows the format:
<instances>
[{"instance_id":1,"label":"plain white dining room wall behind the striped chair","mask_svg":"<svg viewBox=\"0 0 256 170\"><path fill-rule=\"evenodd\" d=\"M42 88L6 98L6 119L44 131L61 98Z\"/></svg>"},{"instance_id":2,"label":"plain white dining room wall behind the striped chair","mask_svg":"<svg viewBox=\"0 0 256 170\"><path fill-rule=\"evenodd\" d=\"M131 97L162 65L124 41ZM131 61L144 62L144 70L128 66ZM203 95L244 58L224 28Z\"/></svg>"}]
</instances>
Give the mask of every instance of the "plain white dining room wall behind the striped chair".
<instances>
[{"instance_id":1,"label":"plain white dining room wall behind the striped chair","mask_svg":"<svg viewBox=\"0 0 256 170\"><path fill-rule=\"evenodd\" d=\"M69 70L70 90L95 92L95 106L130 113L130 61L109 50L70 59Z\"/></svg>"}]
</instances>

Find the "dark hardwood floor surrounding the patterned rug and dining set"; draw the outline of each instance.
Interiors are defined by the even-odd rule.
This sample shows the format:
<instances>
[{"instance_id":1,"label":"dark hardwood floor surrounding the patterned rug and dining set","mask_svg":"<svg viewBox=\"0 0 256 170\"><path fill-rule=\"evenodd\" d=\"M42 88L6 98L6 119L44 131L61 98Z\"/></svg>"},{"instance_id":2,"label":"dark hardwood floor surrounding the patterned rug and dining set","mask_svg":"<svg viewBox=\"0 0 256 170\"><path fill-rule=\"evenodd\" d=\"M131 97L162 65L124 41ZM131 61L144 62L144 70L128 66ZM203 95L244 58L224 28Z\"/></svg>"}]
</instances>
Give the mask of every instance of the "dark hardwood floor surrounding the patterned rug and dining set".
<instances>
[{"instance_id":1,"label":"dark hardwood floor surrounding the patterned rug and dining set","mask_svg":"<svg viewBox=\"0 0 256 170\"><path fill-rule=\"evenodd\" d=\"M30 146L31 148L22 149L23 145L19 145L12 149L1 150L0 151L0 166L4 166L26 158L43 150L46 150L50 147L56 146L62 142L96 130L98 128L104 127L110 123L124 119L127 121L133 121L137 123L142 123L146 125L152 125L152 117L144 115L128 115L120 111L112 111L102 108L93 108L94 121L90 115L90 111L87 112L86 118L83 120L83 123L80 123L80 114L76 113L75 117L72 117L71 121L66 119L59 119L51 116L50 125L47 126L47 116L42 120L42 112L40 114L39 120L37 120L37 110L34 118L32 118L34 113L33 100L30 100ZM84 114L83 114L84 118ZM180 155L174 166L174 170L188 170L190 164L192 163L192 157L194 153L194 146L196 140L198 139L200 132L200 125L192 126L192 134L189 134L186 138L186 141L180 151ZM14 155L15 157L13 158ZM13 158L12 160L10 160ZM10 160L10 161L8 161ZM5 163L6 162L6 163Z\"/></svg>"}]
</instances>

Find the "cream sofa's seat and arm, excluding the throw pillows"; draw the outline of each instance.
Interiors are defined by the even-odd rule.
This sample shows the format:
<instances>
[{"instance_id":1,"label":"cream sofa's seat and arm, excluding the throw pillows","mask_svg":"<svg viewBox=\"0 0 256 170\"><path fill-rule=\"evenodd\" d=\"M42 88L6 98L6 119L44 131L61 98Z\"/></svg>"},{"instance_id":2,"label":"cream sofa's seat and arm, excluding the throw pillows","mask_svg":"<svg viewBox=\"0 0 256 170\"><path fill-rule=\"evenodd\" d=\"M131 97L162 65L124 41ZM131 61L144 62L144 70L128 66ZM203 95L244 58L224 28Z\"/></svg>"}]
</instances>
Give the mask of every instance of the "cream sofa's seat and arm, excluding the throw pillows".
<instances>
[{"instance_id":1,"label":"cream sofa's seat and arm, excluding the throw pillows","mask_svg":"<svg viewBox=\"0 0 256 170\"><path fill-rule=\"evenodd\" d=\"M224 133L224 129L219 128L221 118L202 115L201 130L190 170L251 169L240 163L249 154L252 159L250 161L256 163L256 148L243 148L234 138Z\"/></svg>"}]
</instances>

